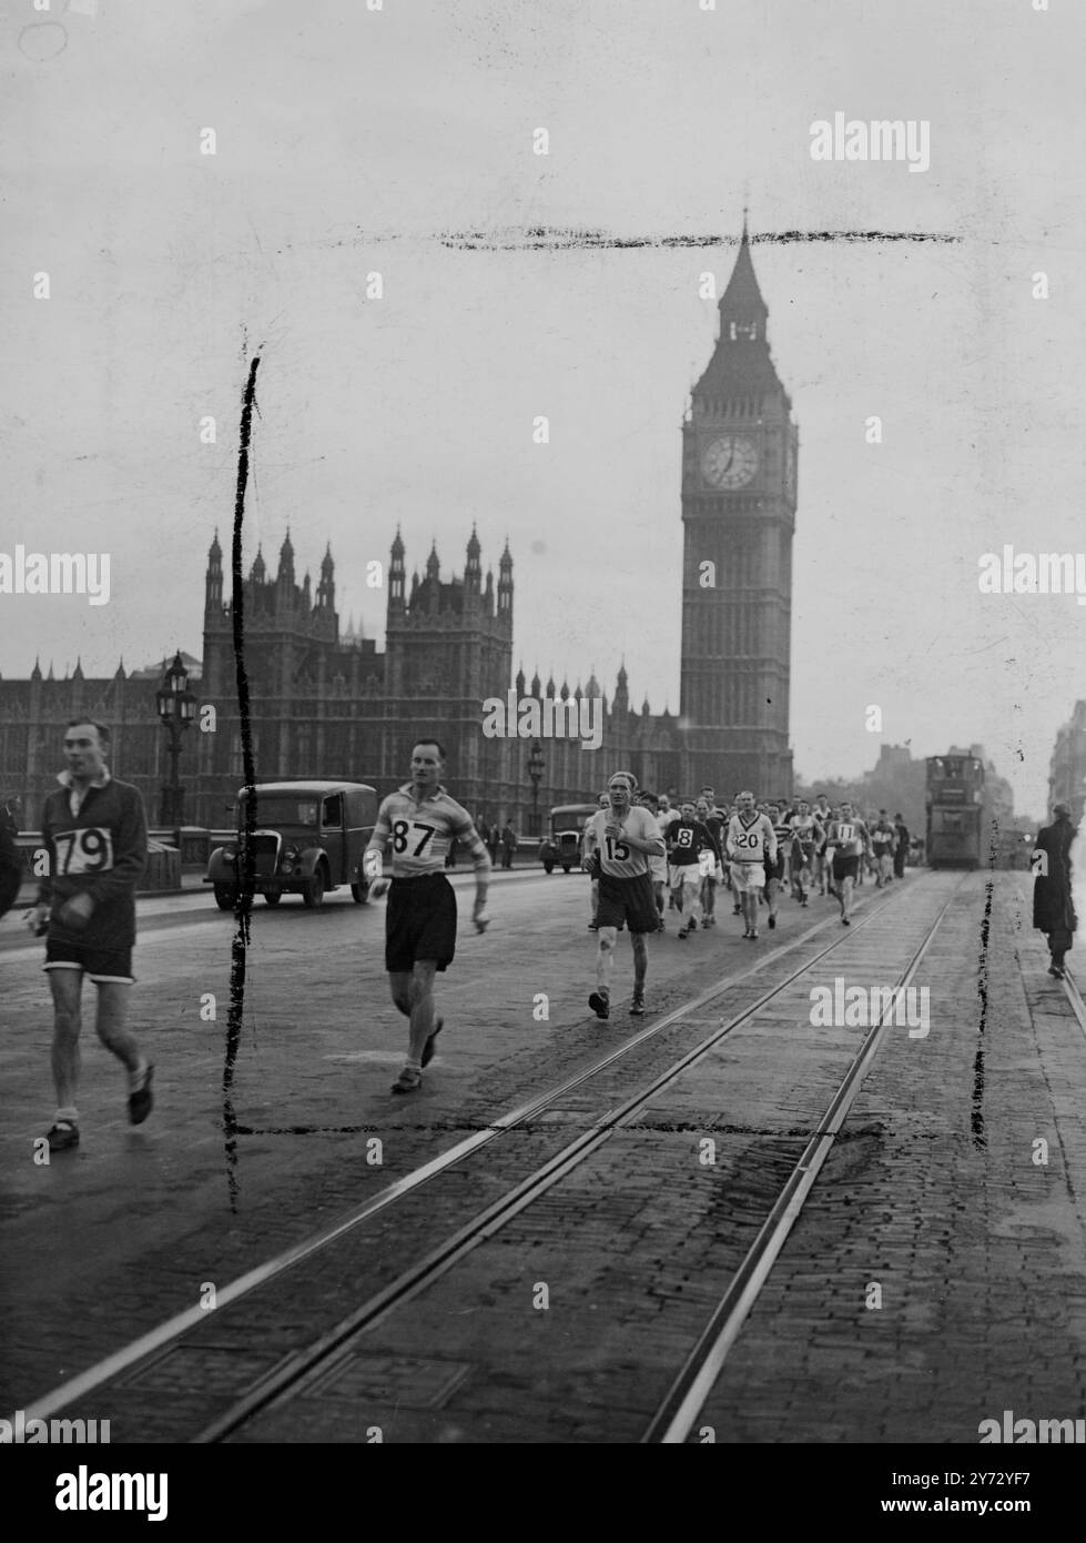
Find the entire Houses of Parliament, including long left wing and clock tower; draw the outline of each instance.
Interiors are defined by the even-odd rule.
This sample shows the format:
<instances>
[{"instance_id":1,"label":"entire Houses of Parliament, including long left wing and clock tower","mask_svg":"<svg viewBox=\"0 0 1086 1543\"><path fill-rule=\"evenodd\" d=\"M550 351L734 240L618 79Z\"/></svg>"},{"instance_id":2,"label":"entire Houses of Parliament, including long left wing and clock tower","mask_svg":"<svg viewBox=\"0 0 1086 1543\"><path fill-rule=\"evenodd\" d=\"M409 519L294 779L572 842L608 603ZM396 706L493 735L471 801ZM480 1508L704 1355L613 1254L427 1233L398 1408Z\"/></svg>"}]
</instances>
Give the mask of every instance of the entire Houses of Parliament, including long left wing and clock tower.
<instances>
[{"instance_id":1,"label":"entire Houses of Parliament, including long left wing and clock tower","mask_svg":"<svg viewBox=\"0 0 1086 1543\"><path fill-rule=\"evenodd\" d=\"M626 670L609 690L594 676L569 684L514 679L514 557L506 543L483 571L472 529L463 571L443 572L433 546L407 576L396 531L386 569L384 650L353 628L341 631L332 551L301 583L290 534L275 574L262 552L244 582L244 663L256 776L261 782L346 778L379 793L406 781L420 734L438 738L449 784L467 810L531 830L531 741L483 734L483 702L506 697L603 697L602 747L546 739L538 784L541 815L591 801L616 767L643 787L720 793L751 787L791 793L788 673L791 540L796 514L798 430L767 341L762 299L744 228L719 301L713 356L693 389L682 423L683 526L682 660L677 714L636 702ZM412 560L418 554L412 554ZM208 551L204 653L190 690L216 708L216 728L185 734L180 782L185 824L219 827L244 781L228 571L218 535ZM535 603L551 597L535 597ZM63 725L77 713L113 730L111 767L134 782L159 821L168 776L167 736L156 716L159 670L86 679L79 665L63 680L0 680L3 792L20 793L26 822L56 785Z\"/></svg>"}]
</instances>

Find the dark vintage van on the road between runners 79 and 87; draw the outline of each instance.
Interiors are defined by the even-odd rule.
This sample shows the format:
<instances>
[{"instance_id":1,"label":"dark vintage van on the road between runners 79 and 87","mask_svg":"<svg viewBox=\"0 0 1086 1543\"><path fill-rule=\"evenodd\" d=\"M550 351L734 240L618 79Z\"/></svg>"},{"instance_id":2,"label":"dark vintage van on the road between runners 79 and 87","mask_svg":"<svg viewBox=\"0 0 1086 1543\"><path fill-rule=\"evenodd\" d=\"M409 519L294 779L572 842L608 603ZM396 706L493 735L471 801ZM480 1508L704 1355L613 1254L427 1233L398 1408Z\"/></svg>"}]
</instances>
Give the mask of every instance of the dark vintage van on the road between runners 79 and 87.
<instances>
[{"instance_id":1,"label":"dark vintage van on the road between runners 79 and 87","mask_svg":"<svg viewBox=\"0 0 1086 1543\"><path fill-rule=\"evenodd\" d=\"M238 838L216 847L205 884L219 910L233 910L244 873L247 799L256 801L251 835L256 893L268 906L301 895L319 906L330 889L350 884L358 904L369 895L363 855L373 835L376 790L366 782L261 782L238 793Z\"/></svg>"}]
</instances>

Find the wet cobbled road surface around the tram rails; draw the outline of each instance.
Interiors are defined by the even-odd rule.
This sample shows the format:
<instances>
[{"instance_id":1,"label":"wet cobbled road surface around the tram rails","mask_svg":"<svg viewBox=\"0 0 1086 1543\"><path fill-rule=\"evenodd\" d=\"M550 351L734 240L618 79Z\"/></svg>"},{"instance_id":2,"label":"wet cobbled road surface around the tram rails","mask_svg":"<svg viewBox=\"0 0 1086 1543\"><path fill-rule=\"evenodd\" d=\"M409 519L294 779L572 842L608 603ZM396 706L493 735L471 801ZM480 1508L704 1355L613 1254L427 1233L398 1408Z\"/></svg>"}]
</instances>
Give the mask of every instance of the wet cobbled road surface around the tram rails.
<instances>
[{"instance_id":1,"label":"wet cobbled road surface around the tram rails","mask_svg":"<svg viewBox=\"0 0 1086 1543\"><path fill-rule=\"evenodd\" d=\"M470 880L457 886L463 912ZM592 1065L643 1021L770 958L727 998L270 1290L208 1312L156 1364L69 1410L111 1418L114 1441L191 1437L231 1392L392 1281L734 1004L839 943L583 1167L233 1438L359 1441L379 1427L386 1441L637 1440L862 1038L861 1026L813 1026L810 988L892 984L953 895L916 978L930 992L930 1032L892 1031L699 1429L717 1441L975 1443L978 1423L1003 1409L1081 1415L1086 1038L1027 930L1027 881L910 875L885 895L861 893L852 934L827 900L807 910L785 901L781 927L756 946L742 941L727 895L717 927L688 943L676 940L673 913L671 934L651 941L640 1021L625 1011L620 940L622 984L603 1025L585 1006L586 883L500 876L491 930L461 930L440 986L447 1029L409 1100L387 1091L404 1029L387 1001L383 906L258 906L233 1162L222 1133L230 917L191 896L176 912L147 903L134 1028L157 1063L156 1111L126 1125L123 1079L88 1018L83 1143L49 1167L32 1160L51 1116L40 947L8 943L6 1409L29 1407L208 1287ZM201 1018L208 992L216 1021Z\"/></svg>"}]
</instances>

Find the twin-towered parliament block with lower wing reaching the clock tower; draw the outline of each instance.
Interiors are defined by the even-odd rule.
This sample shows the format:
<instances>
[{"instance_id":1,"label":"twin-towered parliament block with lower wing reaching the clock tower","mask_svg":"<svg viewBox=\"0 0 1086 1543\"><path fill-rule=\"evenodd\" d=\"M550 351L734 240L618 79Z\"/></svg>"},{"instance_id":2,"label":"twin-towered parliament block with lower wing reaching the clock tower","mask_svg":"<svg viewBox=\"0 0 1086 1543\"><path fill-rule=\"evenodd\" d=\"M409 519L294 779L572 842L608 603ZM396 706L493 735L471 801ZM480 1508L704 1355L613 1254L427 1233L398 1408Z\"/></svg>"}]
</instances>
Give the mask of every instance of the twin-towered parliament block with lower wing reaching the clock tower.
<instances>
[{"instance_id":1,"label":"twin-towered parliament block with lower wing reaching the clock tower","mask_svg":"<svg viewBox=\"0 0 1086 1543\"><path fill-rule=\"evenodd\" d=\"M325 551L321 582L295 577L290 537L272 577L261 552L242 586L244 665L251 701L250 724L256 775L278 778L336 776L372 782L384 793L406 781L410 748L433 734L449 756L455 796L487 821L532 824L528 778L531 739L487 738L483 702L517 699L580 701L599 697L603 744L586 750L578 739L543 739L543 775L537 812L552 804L594 799L608 773L622 765L642 785L677 785L680 736L669 713L653 716L629 705L626 670L619 670L608 702L595 676L574 691L568 682L546 687L523 670L512 679L514 563L506 545L483 577L481 546L472 531L463 577L441 577L437 545L426 568L407 582L406 546L396 532L387 569L386 647L353 630L339 636L335 609L335 563ZM213 704L214 734L199 734L196 787L190 807L201 824L221 824L225 802L244 781L241 713L233 651L233 611L224 599L222 549L208 552L204 605L202 702Z\"/></svg>"}]
</instances>

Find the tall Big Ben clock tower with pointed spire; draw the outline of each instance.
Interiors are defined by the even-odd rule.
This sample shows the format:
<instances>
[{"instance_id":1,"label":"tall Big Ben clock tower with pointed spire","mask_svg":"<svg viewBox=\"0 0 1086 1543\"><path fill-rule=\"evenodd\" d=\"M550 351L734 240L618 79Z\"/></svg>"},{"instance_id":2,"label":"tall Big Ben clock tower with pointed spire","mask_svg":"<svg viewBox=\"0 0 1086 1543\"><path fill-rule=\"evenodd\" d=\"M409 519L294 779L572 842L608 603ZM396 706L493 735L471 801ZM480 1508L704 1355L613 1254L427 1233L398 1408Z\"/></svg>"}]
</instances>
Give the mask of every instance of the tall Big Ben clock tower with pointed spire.
<instances>
[{"instance_id":1,"label":"tall Big Ben clock tower with pointed spire","mask_svg":"<svg viewBox=\"0 0 1086 1543\"><path fill-rule=\"evenodd\" d=\"M798 432L747 225L682 426L683 788L791 795L788 654Z\"/></svg>"}]
</instances>

